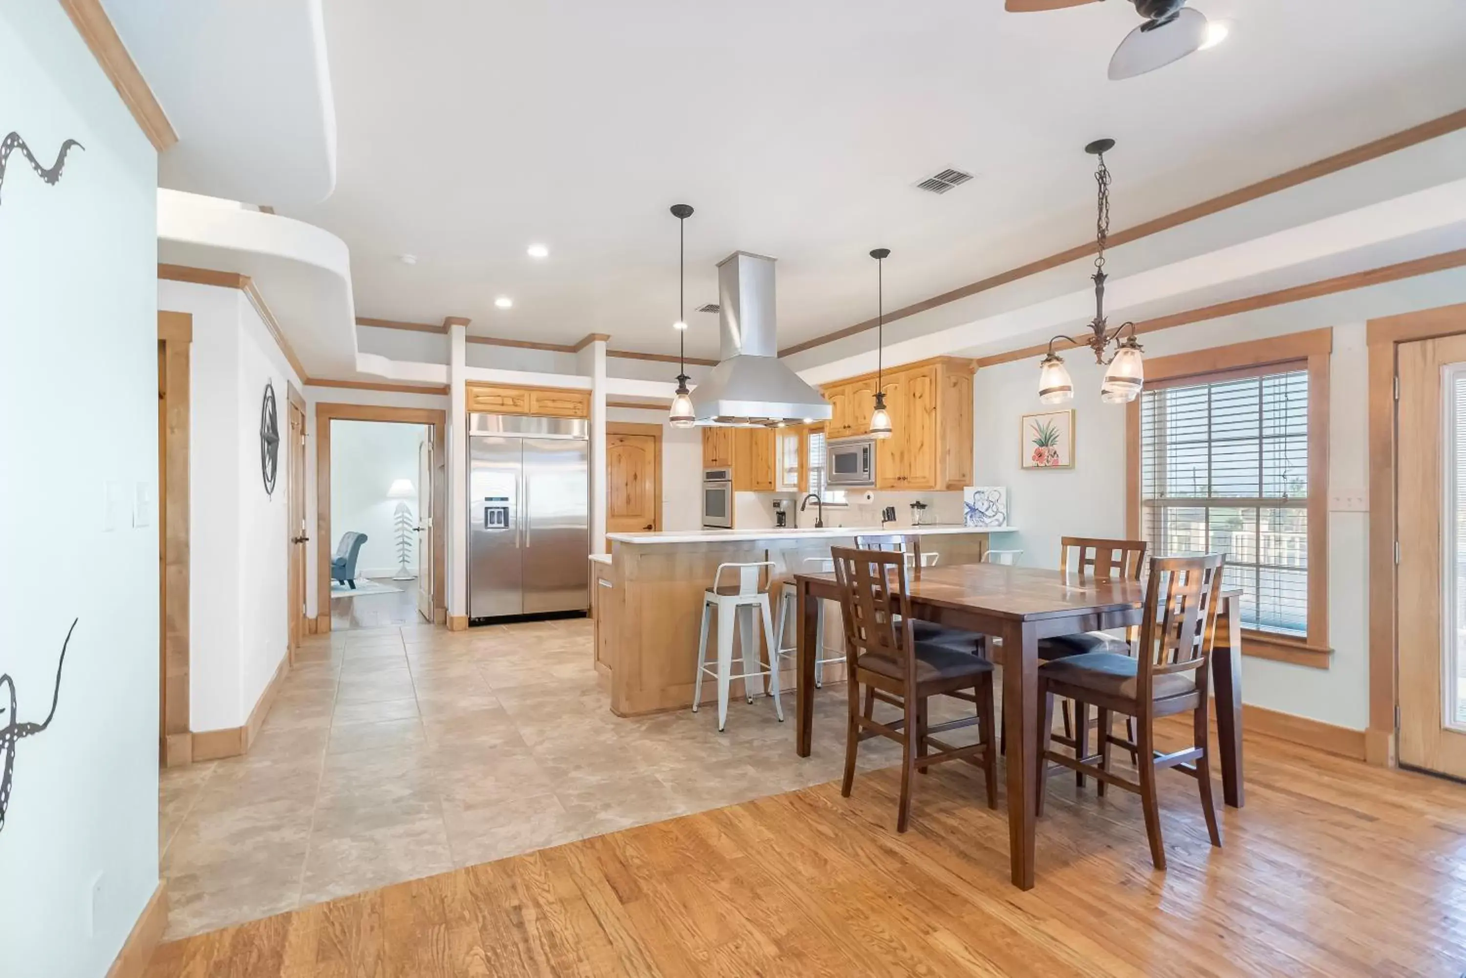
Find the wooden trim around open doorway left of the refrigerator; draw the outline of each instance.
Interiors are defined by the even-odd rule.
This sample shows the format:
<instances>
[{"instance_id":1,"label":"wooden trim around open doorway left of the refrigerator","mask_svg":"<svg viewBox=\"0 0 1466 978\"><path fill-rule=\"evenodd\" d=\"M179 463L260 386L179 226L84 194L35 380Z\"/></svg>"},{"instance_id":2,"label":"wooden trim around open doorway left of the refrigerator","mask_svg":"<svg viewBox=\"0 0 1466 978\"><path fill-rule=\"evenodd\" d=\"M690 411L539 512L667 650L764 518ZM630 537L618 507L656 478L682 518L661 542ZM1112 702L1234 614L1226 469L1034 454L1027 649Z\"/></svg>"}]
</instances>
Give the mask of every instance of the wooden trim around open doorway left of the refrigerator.
<instances>
[{"instance_id":1,"label":"wooden trim around open doorway left of the refrigerator","mask_svg":"<svg viewBox=\"0 0 1466 978\"><path fill-rule=\"evenodd\" d=\"M438 408L390 408L387 405L315 405L315 622L317 632L331 630L331 422L394 421L432 428L432 617L447 620L447 412Z\"/></svg>"}]
</instances>

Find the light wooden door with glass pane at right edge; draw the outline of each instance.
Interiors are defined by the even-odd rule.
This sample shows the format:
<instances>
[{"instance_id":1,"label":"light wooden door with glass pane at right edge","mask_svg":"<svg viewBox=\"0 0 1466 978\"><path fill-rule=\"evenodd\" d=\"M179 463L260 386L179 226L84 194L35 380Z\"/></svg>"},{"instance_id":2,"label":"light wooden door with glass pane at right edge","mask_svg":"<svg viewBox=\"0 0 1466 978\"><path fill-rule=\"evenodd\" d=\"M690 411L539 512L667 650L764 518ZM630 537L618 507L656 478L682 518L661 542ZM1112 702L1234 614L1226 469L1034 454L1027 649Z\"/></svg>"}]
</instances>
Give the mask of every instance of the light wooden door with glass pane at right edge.
<instances>
[{"instance_id":1,"label":"light wooden door with glass pane at right edge","mask_svg":"<svg viewBox=\"0 0 1466 978\"><path fill-rule=\"evenodd\" d=\"M1401 343L1399 371L1399 754L1466 777L1466 336Z\"/></svg>"}]
</instances>

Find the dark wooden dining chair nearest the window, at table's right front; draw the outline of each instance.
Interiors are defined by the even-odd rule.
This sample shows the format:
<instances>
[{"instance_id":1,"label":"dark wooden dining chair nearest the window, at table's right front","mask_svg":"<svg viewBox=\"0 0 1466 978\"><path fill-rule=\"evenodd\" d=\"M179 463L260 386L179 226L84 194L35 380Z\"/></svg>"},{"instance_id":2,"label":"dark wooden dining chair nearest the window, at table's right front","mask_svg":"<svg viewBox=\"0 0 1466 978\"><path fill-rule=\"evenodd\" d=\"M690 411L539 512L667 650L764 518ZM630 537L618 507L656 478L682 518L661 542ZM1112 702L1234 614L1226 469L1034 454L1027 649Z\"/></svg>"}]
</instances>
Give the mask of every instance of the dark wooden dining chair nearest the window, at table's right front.
<instances>
[{"instance_id":1,"label":"dark wooden dining chair nearest the window, at table's right front","mask_svg":"<svg viewBox=\"0 0 1466 978\"><path fill-rule=\"evenodd\" d=\"M1215 639L1217 609L1221 595L1221 554L1204 557L1152 557L1145 589L1145 611L1139 626L1136 655L1085 652L1044 663L1038 667L1038 695L1044 720L1038 736L1038 804L1044 812L1045 774L1054 761L1091 774L1105 786L1114 784L1141 796L1145 834L1151 842L1151 861L1165 868L1161 842L1161 812L1155 796L1157 771L1174 767L1196 779L1202 814L1211 845L1221 845L1221 828L1211 799L1211 746L1208 742L1208 667ZM1054 696L1100 708L1098 754L1076 749L1073 757L1053 749ZM1170 754L1155 749L1155 720L1192 711L1192 746ZM1138 736L1121 742L1141 755L1139 783L1110 771L1110 720L1116 714L1133 717Z\"/></svg>"}]
</instances>

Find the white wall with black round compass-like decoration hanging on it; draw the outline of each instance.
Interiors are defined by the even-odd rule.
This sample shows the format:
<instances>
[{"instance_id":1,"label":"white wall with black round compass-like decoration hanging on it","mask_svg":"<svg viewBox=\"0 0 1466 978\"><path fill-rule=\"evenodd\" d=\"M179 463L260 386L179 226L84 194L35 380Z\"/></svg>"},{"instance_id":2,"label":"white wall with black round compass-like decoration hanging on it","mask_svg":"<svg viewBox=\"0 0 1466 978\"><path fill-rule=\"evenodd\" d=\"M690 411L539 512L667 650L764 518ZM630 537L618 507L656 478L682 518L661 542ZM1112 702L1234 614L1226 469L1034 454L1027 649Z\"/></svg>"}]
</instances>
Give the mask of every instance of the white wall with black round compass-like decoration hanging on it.
<instances>
[{"instance_id":1,"label":"white wall with black round compass-like decoration hanging on it","mask_svg":"<svg viewBox=\"0 0 1466 978\"><path fill-rule=\"evenodd\" d=\"M287 384L301 389L237 289L158 282L158 308L194 317L189 350L189 726L243 726L289 651ZM273 496L259 406L274 386L281 444ZM306 497L312 494L306 484Z\"/></svg>"}]
</instances>

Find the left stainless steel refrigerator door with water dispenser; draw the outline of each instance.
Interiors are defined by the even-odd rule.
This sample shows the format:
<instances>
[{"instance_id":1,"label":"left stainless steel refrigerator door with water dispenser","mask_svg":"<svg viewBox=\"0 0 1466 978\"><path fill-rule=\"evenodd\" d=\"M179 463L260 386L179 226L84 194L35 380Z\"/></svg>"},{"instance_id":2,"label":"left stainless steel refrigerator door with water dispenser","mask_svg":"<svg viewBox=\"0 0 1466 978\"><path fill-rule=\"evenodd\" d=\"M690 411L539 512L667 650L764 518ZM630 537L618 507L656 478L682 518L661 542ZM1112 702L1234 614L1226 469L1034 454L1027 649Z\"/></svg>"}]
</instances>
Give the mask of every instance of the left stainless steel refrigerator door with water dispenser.
<instances>
[{"instance_id":1,"label":"left stainless steel refrigerator door with water dispenser","mask_svg":"<svg viewBox=\"0 0 1466 978\"><path fill-rule=\"evenodd\" d=\"M523 614L522 443L481 434L468 446L468 614Z\"/></svg>"}]
</instances>

